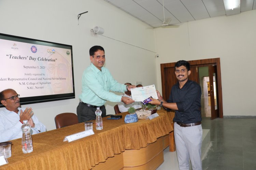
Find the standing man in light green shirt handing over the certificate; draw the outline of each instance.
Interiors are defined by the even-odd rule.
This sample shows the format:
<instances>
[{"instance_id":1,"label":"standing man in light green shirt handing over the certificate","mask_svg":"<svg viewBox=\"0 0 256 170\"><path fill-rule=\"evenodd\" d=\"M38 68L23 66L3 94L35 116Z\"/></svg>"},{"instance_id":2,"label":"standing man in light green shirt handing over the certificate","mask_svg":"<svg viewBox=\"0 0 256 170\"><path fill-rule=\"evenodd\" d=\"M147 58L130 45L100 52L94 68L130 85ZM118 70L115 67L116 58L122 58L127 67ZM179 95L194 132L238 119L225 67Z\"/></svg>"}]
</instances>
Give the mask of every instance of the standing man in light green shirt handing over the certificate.
<instances>
[{"instance_id":1,"label":"standing man in light green shirt handing over the certificate","mask_svg":"<svg viewBox=\"0 0 256 170\"><path fill-rule=\"evenodd\" d=\"M134 100L116 95L111 91L124 92L134 85L124 85L115 81L108 69L103 67L105 63L105 51L101 46L90 48L91 65L84 70L82 77L82 94L79 96L80 102L77 106L76 113L79 122L85 122L96 119L95 111L100 107L102 117L106 116L105 103L124 102L125 104L133 103Z\"/></svg>"}]
</instances>

